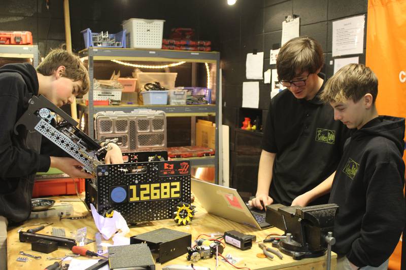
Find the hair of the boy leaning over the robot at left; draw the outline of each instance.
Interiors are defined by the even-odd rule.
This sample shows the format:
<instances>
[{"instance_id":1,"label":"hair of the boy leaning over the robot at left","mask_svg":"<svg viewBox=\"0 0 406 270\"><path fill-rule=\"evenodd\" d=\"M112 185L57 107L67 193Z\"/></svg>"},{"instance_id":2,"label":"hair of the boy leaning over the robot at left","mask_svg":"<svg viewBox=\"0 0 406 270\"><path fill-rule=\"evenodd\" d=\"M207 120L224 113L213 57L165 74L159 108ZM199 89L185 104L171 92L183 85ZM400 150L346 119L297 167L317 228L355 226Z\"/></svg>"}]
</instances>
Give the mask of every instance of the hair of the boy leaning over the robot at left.
<instances>
[{"instance_id":1,"label":"hair of the boy leaning over the robot at left","mask_svg":"<svg viewBox=\"0 0 406 270\"><path fill-rule=\"evenodd\" d=\"M74 82L82 82L82 89L78 92L79 96L82 96L89 91L89 73L82 61L80 61L79 56L74 53L67 52L63 49L54 49L49 52L45 59L38 65L37 71L44 76L49 76L52 75L59 66L65 67L62 76L71 79Z\"/></svg>"}]
</instances>

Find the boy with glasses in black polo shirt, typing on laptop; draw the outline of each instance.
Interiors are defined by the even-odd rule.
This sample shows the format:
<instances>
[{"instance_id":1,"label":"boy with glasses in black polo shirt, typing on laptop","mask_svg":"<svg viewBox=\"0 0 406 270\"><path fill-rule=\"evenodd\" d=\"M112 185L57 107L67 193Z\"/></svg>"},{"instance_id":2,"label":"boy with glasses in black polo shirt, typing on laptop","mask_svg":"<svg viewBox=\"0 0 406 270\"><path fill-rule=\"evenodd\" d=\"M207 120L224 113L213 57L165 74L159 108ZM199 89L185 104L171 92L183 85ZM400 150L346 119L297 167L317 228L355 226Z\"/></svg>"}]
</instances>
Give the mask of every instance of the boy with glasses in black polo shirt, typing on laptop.
<instances>
[{"instance_id":1,"label":"boy with glasses in black polo shirt, typing on laptop","mask_svg":"<svg viewBox=\"0 0 406 270\"><path fill-rule=\"evenodd\" d=\"M317 205L328 192L348 129L334 121L319 95L324 87L323 50L312 37L293 38L277 57L286 87L270 101L264 126L256 197L250 205Z\"/></svg>"}]
</instances>

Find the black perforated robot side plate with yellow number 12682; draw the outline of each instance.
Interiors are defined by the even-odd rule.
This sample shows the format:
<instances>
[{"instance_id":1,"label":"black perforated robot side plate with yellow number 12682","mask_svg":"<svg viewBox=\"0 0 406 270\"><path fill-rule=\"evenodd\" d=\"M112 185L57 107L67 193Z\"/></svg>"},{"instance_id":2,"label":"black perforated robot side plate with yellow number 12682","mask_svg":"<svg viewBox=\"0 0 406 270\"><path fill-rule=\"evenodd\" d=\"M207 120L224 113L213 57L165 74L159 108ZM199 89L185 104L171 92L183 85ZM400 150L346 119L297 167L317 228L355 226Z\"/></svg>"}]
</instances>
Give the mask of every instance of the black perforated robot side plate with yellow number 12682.
<instances>
[{"instance_id":1,"label":"black perforated robot side plate with yellow number 12682","mask_svg":"<svg viewBox=\"0 0 406 270\"><path fill-rule=\"evenodd\" d=\"M162 161L97 166L97 211L113 208L127 223L172 218L190 203L190 162Z\"/></svg>"}]
</instances>

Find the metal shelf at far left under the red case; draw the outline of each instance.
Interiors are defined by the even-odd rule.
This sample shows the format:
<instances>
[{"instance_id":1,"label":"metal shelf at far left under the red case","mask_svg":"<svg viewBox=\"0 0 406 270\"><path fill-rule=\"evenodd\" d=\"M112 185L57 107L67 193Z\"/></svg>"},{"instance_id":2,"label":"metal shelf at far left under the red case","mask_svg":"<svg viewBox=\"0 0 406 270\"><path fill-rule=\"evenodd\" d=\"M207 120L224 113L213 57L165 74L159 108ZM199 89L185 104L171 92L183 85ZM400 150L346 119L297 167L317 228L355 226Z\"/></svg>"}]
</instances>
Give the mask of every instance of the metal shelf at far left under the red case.
<instances>
[{"instance_id":1,"label":"metal shelf at far left under the red case","mask_svg":"<svg viewBox=\"0 0 406 270\"><path fill-rule=\"evenodd\" d=\"M38 45L0 45L0 58L29 58L32 65L39 64Z\"/></svg>"}]
</instances>

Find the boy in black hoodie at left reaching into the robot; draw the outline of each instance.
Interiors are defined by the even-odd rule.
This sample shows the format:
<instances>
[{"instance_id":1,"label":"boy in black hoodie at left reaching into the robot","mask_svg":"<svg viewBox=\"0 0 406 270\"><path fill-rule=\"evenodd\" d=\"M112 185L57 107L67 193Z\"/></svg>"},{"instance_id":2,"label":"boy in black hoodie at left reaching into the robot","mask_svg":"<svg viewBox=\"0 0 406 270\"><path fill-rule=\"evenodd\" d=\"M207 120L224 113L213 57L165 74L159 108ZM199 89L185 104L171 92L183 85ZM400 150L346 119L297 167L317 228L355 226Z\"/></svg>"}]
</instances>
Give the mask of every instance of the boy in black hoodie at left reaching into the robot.
<instances>
[{"instance_id":1,"label":"boy in black hoodie at left reaching into the robot","mask_svg":"<svg viewBox=\"0 0 406 270\"><path fill-rule=\"evenodd\" d=\"M40 153L41 134L13 128L33 95L56 106L69 104L89 90L89 76L79 57L53 50L37 67L28 63L0 67L0 269L7 269L7 225L26 220L31 212L34 176L57 168L71 177L91 178L73 158ZM121 150L111 144L106 163L122 163ZM57 147L57 146L55 146ZM52 150L52 149L50 149ZM58 151L53 151L58 152ZM60 151L59 151L60 152ZM62 155L63 156L63 155Z\"/></svg>"}]
</instances>

